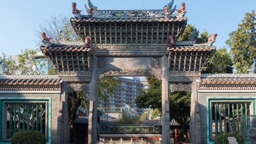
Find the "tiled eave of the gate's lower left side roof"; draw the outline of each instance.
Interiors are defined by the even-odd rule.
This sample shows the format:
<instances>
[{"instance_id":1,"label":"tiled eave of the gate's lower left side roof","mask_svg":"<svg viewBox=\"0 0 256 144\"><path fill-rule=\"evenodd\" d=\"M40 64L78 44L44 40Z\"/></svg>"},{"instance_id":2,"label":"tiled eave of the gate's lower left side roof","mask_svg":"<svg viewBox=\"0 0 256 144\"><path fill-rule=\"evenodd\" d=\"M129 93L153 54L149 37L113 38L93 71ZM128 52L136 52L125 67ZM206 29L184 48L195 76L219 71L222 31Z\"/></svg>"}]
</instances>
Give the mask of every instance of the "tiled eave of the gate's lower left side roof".
<instances>
[{"instance_id":1,"label":"tiled eave of the gate's lower left side roof","mask_svg":"<svg viewBox=\"0 0 256 144\"><path fill-rule=\"evenodd\" d=\"M50 47L50 46L40 46L42 52L89 52L90 48L85 46L59 46L59 47Z\"/></svg>"}]
</instances>

